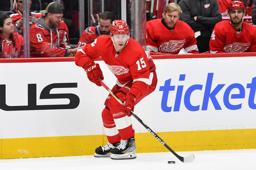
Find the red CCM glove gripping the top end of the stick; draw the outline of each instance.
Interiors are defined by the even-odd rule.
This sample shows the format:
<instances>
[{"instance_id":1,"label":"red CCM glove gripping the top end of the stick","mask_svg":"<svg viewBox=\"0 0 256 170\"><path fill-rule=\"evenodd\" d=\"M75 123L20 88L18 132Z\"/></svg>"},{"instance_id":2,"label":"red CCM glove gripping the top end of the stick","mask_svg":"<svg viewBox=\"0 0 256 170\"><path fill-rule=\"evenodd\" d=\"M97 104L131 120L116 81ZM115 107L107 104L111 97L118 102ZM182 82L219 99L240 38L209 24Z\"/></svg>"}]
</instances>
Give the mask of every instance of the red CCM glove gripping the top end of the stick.
<instances>
[{"instance_id":1,"label":"red CCM glove gripping the top end of the stick","mask_svg":"<svg viewBox=\"0 0 256 170\"><path fill-rule=\"evenodd\" d=\"M99 76L104 80L101 68L99 68L99 64L95 64L94 61L88 62L85 66L83 66L85 69L85 73L87 73L88 79L95 83L97 86L101 86L101 83L99 82Z\"/></svg>"}]
</instances>

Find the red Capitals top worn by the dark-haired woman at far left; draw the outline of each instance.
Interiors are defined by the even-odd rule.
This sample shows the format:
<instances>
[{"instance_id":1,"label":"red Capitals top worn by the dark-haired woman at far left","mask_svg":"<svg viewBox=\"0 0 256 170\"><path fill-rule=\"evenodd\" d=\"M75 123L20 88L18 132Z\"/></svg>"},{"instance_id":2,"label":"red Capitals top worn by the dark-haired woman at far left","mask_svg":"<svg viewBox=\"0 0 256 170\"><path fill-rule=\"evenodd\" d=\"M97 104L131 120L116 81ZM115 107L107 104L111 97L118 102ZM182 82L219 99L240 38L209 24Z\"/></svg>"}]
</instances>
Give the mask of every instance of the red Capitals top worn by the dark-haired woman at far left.
<instances>
[{"instance_id":1,"label":"red Capitals top worn by the dark-haired woman at far left","mask_svg":"<svg viewBox=\"0 0 256 170\"><path fill-rule=\"evenodd\" d=\"M22 58L24 57L23 52L23 37L18 34L18 32L13 32L13 38L15 41L15 47L13 46L12 41L6 40L2 34L1 37L1 44L2 44L2 51L0 52L1 58Z\"/></svg>"}]
</instances>

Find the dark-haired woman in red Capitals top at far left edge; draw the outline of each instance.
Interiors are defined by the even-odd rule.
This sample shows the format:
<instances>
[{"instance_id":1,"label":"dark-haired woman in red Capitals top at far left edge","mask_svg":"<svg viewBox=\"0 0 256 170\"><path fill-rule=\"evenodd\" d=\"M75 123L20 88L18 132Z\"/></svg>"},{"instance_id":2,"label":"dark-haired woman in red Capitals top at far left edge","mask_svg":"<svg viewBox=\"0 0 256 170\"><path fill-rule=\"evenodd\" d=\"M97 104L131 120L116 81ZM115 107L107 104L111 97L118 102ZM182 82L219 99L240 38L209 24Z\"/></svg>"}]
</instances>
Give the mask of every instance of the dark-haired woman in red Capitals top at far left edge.
<instances>
[{"instance_id":1,"label":"dark-haired woman in red Capitals top at far left edge","mask_svg":"<svg viewBox=\"0 0 256 170\"><path fill-rule=\"evenodd\" d=\"M0 15L0 58L23 57L23 37L14 32L9 15Z\"/></svg>"}]
</instances>

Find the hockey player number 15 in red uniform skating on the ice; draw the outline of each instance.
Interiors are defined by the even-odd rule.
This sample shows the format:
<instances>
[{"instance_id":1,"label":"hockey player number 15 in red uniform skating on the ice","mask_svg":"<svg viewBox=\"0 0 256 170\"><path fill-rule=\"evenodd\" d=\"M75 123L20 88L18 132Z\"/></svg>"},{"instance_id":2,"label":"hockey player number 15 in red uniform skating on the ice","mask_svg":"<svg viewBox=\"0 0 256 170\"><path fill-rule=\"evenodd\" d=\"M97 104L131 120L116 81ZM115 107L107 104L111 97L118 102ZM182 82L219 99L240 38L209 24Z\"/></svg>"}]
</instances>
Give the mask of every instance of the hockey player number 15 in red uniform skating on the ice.
<instances>
[{"instance_id":1,"label":"hockey player number 15 in red uniform skating on the ice","mask_svg":"<svg viewBox=\"0 0 256 170\"><path fill-rule=\"evenodd\" d=\"M110 33L110 36L101 35L93 43L79 49L75 63L85 69L91 82L101 86L99 76L104 77L99 64L94 63L101 56L117 78L112 92L125 102L123 106L111 95L107 97L102 121L108 143L96 148L94 156L134 159L136 146L129 113L135 104L155 90L155 65L138 41L129 38L129 27L124 20L114 20Z\"/></svg>"}]
</instances>

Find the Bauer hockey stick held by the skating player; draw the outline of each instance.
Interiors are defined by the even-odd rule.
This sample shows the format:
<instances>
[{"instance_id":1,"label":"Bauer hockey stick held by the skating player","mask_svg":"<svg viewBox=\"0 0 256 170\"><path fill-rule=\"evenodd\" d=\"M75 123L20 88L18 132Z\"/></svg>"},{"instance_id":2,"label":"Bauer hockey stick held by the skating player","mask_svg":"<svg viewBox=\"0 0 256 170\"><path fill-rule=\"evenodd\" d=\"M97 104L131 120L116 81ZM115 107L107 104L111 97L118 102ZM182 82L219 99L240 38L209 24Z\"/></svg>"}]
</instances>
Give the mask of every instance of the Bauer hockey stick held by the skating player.
<instances>
[{"instance_id":1,"label":"Bauer hockey stick held by the skating player","mask_svg":"<svg viewBox=\"0 0 256 170\"><path fill-rule=\"evenodd\" d=\"M122 105L125 105L119 97L117 97L107 86L106 84L102 81L101 77L99 77L99 81L101 85ZM189 156L182 157L179 156L174 150L172 150L153 130L149 128L133 111L130 112L135 119L137 119L148 131L151 133L159 142L163 144L173 155L175 155L181 162L188 163L188 162L193 162L195 160L194 154L190 154Z\"/></svg>"}]
</instances>

